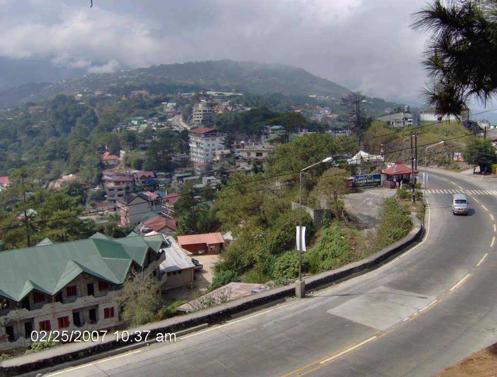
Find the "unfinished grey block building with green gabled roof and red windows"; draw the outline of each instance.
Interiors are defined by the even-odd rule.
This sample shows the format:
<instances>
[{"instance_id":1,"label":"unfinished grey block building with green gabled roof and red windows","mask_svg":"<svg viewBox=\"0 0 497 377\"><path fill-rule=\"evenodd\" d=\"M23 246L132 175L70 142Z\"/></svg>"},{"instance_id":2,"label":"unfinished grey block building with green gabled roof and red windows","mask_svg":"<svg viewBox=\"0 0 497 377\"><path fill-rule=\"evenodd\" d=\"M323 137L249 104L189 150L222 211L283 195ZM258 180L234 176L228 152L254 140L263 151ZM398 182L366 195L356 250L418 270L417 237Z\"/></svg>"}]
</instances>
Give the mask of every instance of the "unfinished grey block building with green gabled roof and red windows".
<instances>
[{"instance_id":1,"label":"unfinished grey block building with green gabled roof and red windows","mask_svg":"<svg viewBox=\"0 0 497 377\"><path fill-rule=\"evenodd\" d=\"M33 331L115 331L124 323L117 296L130 269L152 275L158 287L167 279L160 237L95 233L1 252L0 351L28 345Z\"/></svg>"}]
</instances>

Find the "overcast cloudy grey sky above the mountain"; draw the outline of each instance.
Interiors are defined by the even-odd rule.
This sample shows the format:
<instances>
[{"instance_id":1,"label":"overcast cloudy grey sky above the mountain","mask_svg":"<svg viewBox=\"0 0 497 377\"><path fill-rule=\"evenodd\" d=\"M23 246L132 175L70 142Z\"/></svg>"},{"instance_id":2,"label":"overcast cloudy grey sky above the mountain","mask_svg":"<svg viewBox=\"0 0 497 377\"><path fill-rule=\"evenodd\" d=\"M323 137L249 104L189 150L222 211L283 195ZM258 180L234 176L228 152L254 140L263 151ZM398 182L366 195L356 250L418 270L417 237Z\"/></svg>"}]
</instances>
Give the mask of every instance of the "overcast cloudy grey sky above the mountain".
<instances>
[{"instance_id":1,"label":"overcast cloudy grey sky above the mountain","mask_svg":"<svg viewBox=\"0 0 497 377\"><path fill-rule=\"evenodd\" d=\"M63 76L232 59L289 64L353 91L418 105L426 38L409 24L425 3L93 0L90 8L90 0L0 0L0 58L10 63L0 75L27 67L32 79L33 61Z\"/></svg>"}]
</instances>

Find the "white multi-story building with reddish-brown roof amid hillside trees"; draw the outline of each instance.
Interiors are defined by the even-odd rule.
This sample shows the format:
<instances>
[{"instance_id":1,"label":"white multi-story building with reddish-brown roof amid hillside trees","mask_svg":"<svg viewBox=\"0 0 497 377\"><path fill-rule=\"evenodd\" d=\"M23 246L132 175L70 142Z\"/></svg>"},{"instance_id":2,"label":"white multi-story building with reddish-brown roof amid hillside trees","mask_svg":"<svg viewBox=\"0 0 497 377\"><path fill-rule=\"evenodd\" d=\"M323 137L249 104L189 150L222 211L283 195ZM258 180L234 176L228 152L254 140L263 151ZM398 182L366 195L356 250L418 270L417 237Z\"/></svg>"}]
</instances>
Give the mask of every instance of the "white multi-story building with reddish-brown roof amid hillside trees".
<instances>
[{"instance_id":1,"label":"white multi-story building with reddish-brown roof amid hillside trees","mask_svg":"<svg viewBox=\"0 0 497 377\"><path fill-rule=\"evenodd\" d=\"M214 128L194 128L190 130L190 160L212 164L216 151L224 149L223 140L227 132Z\"/></svg>"}]
</instances>

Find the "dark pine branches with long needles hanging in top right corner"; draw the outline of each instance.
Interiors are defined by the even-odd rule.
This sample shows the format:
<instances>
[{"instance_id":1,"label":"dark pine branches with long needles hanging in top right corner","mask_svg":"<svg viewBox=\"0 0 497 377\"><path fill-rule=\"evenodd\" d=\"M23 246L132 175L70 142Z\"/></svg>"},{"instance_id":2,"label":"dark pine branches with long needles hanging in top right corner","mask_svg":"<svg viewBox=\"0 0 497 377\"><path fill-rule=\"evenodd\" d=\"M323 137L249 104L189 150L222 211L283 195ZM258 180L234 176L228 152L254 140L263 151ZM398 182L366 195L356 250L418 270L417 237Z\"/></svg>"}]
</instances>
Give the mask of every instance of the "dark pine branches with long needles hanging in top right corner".
<instances>
[{"instance_id":1,"label":"dark pine branches with long needles hanging in top right corner","mask_svg":"<svg viewBox=\"0 0 497 377\"><path fill-rule=\"evenodd\" d=\"M439 114L461 114L476 97L497 94L497 3L431 0L411 26L429 33L423 65L431 80L425 102Z\"/></svg>"}]
</instances>

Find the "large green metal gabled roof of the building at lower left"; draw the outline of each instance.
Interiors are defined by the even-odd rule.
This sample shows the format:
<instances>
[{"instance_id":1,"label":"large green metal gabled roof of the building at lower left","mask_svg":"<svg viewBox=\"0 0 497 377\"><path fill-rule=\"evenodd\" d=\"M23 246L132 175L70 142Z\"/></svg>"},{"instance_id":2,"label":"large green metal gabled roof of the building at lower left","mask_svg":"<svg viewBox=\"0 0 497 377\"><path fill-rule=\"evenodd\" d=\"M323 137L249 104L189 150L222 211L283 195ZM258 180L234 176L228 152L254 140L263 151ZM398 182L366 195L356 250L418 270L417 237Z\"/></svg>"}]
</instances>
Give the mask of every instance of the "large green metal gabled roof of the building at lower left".
<instances>
[{"instance_id":1,"label":"large green metal gabled roof of the building at lower left","mask_svg":"<svg viewBox=\"0 0 497 377\"><path fill-rule=\"evenodd\" d=\"M112 238L95 233L88 239L56 243L45 239L34 247L0 252L0 296L20 302L32 290L56 295L82 273L121 284L135 262L143 266L148 251L162 242L134 233Z\"/></svg>"}]
</instances>

